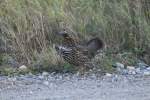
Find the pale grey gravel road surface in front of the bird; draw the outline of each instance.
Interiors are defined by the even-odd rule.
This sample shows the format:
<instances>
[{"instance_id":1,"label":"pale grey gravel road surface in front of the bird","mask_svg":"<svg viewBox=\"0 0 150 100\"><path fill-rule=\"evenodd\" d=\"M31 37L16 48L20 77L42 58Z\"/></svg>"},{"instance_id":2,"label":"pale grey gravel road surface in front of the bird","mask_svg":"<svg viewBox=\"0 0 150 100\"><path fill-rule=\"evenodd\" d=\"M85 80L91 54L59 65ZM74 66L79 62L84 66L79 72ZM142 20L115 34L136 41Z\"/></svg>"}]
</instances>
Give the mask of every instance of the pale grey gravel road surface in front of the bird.
<instances>
[{"instance_id":1,"label":"pale grey gravel road surface in front of the bird","mask_svg":"<svg viewBox=\"0 0 150 100\"><path fill-rule=\"evenodd\" d=\"M107 73L0 77L0 100L150 100L150 77Z\"/></svg>"}]
</instances>

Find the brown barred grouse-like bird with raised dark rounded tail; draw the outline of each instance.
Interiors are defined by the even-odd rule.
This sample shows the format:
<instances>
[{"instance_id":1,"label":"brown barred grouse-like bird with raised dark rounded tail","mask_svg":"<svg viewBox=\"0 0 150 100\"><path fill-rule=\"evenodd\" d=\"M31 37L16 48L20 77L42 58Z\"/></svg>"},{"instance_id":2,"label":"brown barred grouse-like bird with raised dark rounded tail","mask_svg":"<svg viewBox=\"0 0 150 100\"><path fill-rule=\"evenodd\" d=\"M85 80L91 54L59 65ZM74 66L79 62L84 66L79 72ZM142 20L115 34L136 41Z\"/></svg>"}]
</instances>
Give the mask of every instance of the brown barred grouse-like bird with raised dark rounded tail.
<instances>
[{"instance_id":1,"label":"brown barred grouse-like bird with raised dark rounded tail","mask_svg":"<svg viewBox=\"0 0 150 100\"><path fill-rule=\"evenodd\" d=\"M66 62L75 66L93 68L91 59L104 46L101 39L95 37L81 45L78 40L75 40L66 31L61 31L58 34L63 37L63 43L56 45L55 49Z\"/></svg>"}]
</instances>

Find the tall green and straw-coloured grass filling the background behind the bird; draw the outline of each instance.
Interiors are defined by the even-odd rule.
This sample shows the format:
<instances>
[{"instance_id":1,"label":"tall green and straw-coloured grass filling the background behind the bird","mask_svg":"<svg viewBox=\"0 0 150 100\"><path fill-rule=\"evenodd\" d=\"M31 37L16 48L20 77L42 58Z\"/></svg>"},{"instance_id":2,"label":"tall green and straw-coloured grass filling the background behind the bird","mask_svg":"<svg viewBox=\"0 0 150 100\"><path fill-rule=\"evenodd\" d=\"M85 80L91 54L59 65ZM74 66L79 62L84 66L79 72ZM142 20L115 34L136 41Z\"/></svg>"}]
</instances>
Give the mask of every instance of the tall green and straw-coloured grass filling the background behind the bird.
<instances>
[{"instance_id":1,"label":"tall green and straw-coloured grass filling the background behind the bird","mask_svg":"<svg viewBox=\"0 0 150 100\"><path fill-rule=\"evenodd\" d=\"M110 53L98 62L106 63L104 69L110 69L112 60L118 60L112 59L113 53L132 52L139 58L150 48L150 10L146 0L141 1L2 0L0 46L6 51L11 49L13 52L7 55L21 64L41 63L42 67L52 66L50 69L63 69L56 66L64 64L64 68L70 68L53 48L60 42L55 33L68 28L77 32L81 40L96 36L103 39Z\"/></svg>"}]
</instances>

